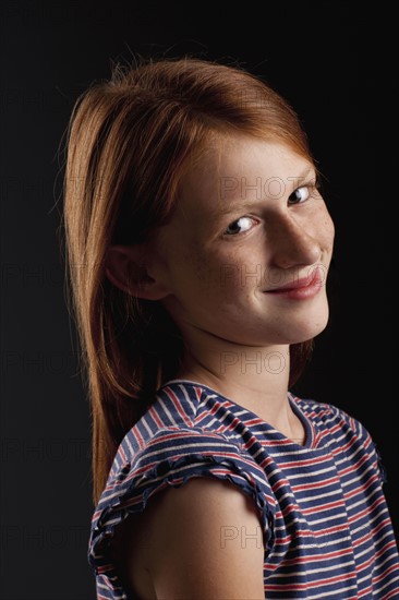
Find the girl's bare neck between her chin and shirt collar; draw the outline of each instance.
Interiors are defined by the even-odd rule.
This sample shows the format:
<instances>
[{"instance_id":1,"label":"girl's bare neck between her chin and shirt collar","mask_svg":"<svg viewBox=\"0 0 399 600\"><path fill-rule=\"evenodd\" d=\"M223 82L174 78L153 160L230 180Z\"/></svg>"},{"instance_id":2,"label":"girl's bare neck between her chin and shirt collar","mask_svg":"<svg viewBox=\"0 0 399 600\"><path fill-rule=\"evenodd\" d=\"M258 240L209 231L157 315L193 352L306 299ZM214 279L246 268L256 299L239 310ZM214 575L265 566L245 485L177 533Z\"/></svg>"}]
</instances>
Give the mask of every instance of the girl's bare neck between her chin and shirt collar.
<instances>
[{"instance_id":1,"label":"girl's bare neck between her chin and shirt collar","mask_svg":"<svg viewBox=\"0 0 399 600\"><path fill-rule=\"evenodd\" d=\"M303 427L288 401L288 345L242 346L195 331L176 379L207 385L251 410L290 439L303 441Z\"/></svg>"}]
</instances>

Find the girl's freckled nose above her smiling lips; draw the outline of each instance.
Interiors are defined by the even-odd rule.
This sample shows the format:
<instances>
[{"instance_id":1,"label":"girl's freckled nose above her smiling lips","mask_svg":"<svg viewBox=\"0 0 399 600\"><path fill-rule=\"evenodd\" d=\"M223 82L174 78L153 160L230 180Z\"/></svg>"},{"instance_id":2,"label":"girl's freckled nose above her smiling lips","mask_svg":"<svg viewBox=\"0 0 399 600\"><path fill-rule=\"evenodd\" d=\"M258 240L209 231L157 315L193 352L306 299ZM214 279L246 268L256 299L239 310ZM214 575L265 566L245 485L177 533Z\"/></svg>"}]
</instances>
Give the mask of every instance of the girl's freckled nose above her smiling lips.
<instances>
[{"instance_id":1,"label":"girl's freckled nose above her smiling lips","mask_svg":"<svg viewBox=\"0 0 399 600\"><path fill-rule=\"evenodd\" d=\"M321 262L322 248L314 228L290 214L276 215L268 228L268 248L273 264L279 268L313 265Z\"/></svg>"}]
</instances>

